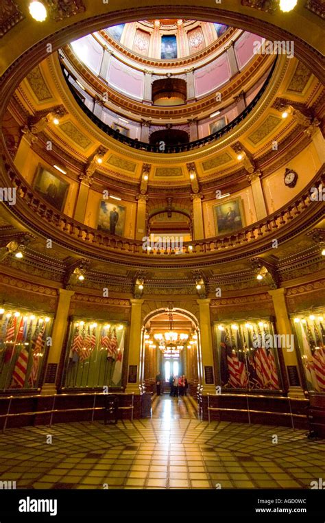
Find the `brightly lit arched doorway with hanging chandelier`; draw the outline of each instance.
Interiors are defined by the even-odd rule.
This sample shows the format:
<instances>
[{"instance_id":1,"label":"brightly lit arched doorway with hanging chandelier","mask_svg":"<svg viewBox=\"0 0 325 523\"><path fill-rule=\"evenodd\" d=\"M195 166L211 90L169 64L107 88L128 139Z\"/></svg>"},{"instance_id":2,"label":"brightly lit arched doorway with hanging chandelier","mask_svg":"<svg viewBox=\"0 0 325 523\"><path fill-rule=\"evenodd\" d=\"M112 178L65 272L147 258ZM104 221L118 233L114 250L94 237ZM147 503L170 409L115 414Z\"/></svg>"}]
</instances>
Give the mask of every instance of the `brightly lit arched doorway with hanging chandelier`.
<instances>
[{"instance_id":1,"label":"brightly lit arched doorway with hanging chandelier","mask_svg":"<svg viewBox=\"0 0 325 523\"><path fill-rule=\"evenodd\" d=\"M142 329L142 372L147 390L155 392L156 375L162 393L169 393L169 377L186 375L188 393L195 395L200 381L200 329L197 318L177 307L148 314Z\"/></svg>"}]
</instances>

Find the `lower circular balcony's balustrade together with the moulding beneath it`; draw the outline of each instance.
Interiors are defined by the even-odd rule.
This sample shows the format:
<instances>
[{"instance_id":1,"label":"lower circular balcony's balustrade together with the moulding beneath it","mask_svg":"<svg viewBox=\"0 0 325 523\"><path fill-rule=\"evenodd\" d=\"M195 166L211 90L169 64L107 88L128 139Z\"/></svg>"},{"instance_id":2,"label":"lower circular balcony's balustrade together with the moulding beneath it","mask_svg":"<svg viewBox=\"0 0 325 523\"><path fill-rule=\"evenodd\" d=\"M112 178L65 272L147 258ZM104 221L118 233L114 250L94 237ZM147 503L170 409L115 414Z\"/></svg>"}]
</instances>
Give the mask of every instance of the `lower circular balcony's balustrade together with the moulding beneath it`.
<instances>
[{"instance_id":1,"label":"lower circular balcony's balustrade together with the moulding beneath it","mask_svg":"<svg viewBox=\"0 0 325 523\"><path fill-rule=\"evenodd\" d=\"M144 251L141 240L132 240L97 231L51 207L43 198L35 194L32 187L16 170L11 159L2 157L1 166L2 186L12 186L17 189L16 205L3 203L30 229L34 229L41 235L46 233L47 237L56 238L60 244L79 252L82 251L86 256L90 256L92 253L100 257L105 256L105 253L108 255L110 252L115 255L123 253L140 257L145 262L146 258L152 259L155 255L164 255L166 259L173 257L173 264L176 263L176 257L180 258L180 255L186 255L187 258L192 257L191 255L194 257L195 255L221 254L224 259L226 253L231 252L234 256L234 249L241 248L242 251L245 251L246 246L250 252L254 251L254 248L267 250L275 233L279 242L289 239L324 216L324 202L311 198L312 188L324 185L324 183L325 166L323 165L311 183L296 198L263 220L228 235L184 242L178 248L171 246Z\"/></svg>"}]
</instances>

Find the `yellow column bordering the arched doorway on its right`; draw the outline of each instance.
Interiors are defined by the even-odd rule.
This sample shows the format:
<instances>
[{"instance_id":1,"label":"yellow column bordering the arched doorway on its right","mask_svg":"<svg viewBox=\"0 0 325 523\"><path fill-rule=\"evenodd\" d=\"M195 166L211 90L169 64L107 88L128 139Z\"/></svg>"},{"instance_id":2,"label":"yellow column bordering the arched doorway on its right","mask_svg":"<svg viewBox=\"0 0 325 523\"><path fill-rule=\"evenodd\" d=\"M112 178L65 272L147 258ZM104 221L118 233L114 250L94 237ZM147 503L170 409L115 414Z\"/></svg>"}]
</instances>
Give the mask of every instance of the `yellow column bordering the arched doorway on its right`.
<instances>
[{"instance_id":1,"label":"yellow column bordering the arched doorway on its right","mask_svg":"<svg viewBox=\"0 0 325 523\"><path fill-rule=\"evenodd\" d=\"M200 382L203 385L203 393L215 394L215 369L213 365L213 342L211 332L211 319L210 319L210 299L199 299L197 300L200 309L200 336L201 336L201 379ZM207 367L207 369L205 369ZM212 367L213 370L213 384L206 383L207 373L211 370L208 367ZM207 373L206 373L207 371Z\"/></svg>"}]
</instances>

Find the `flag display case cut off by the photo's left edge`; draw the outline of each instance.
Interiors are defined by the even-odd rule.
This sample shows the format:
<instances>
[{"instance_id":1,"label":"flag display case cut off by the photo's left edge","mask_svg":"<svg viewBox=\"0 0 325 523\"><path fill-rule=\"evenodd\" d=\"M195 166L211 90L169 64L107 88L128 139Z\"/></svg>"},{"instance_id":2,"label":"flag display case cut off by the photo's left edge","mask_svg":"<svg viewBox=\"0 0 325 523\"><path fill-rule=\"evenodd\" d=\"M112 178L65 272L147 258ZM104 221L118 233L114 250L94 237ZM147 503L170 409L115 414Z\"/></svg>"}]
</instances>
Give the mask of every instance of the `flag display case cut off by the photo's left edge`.
<instances>
[{"instance_id":1,"label":"flag display case cut off by the photo's left edge","mask_svg":"<svg viewBox=\"0 0 325 523\"><path fill-rule=\"evenodd\" d=\"M41 312L1 307L0 391L39 388L52 323Z\"/></svg>"}]
</instances>

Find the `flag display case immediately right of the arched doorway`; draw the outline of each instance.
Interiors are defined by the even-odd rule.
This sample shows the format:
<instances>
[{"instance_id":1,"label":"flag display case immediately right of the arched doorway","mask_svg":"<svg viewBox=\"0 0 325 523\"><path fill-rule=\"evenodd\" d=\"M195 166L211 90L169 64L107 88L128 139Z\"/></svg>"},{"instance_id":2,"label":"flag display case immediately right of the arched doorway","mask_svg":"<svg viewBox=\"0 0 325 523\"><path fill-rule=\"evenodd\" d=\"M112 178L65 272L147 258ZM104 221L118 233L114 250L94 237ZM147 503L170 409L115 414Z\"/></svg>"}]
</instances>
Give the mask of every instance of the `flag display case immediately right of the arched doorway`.
<instances>
[{"instance_id":1,"label":"flag display case immediately right of the arched doorway","mask_svg":"<svg viewBox=\"0 0 325 523\"><path fill-rule=\"evenodd\" d=\"M219 384L226 389L282 389L277 337L271 321L215 323Z\"/></svg>"}]
</instances>

